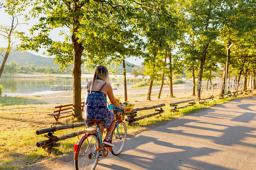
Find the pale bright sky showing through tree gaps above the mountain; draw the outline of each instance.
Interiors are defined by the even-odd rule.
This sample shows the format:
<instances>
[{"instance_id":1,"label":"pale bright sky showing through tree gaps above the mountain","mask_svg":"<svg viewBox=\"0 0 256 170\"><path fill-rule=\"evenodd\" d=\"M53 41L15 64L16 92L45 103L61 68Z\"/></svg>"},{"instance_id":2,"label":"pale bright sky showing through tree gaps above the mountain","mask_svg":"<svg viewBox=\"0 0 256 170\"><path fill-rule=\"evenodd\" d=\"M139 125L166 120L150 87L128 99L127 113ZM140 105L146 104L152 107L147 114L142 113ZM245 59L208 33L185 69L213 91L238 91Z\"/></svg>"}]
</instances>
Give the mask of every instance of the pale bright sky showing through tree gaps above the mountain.
<instances>
[{"instance_id":1,"label":"pale bright sky showing through tree gaps above the mountain","mask_svg":"<svg viewBox=\"0 0 256 170\"><path fill-rule=\"evenodd\" d=\"M0 19L0 25L6 25L6 26L11 26L12 24L12 18L8 15L6 15L6 13L0 9L0 16L1 16L1 19ZM24 18L22 16L20 16L19 18L19 23L24 23ZM17 26L17 31L20 31L20 32L24 32L26 35L29 35L29 31L28 29L30 27L32 27L34 24L36 24L37 20L36 19L33 19L33 20L29 20L29 21L26 21L26 24L20 24ZM61 41L63 40L64 41L64 37L61 37L58 35L58 32L60 30L54 30L50 36L53 40L58 40L58 41ZM18 40L15 40L14 44L19 44L20 41ZM0 47L7 47L8 43L6 40L4 40L4 37L0 35ZM46 55L43 55L43 52L45 52L45 49L44 48L41 48L39 49L38 52L36 51L28 51L32 54L35 54L35 55L40 55L40 56L44 56L44 57L47 57ZM129 63L132 63L132 64L135 64L135 65L141 65L141 63L143 62L143 59L140 59L140 58L136 58L136 57L129 57L126 59L126 61L128 61ZM0 60L1 62L1 60Z\"/></svg>"}]
</instances>

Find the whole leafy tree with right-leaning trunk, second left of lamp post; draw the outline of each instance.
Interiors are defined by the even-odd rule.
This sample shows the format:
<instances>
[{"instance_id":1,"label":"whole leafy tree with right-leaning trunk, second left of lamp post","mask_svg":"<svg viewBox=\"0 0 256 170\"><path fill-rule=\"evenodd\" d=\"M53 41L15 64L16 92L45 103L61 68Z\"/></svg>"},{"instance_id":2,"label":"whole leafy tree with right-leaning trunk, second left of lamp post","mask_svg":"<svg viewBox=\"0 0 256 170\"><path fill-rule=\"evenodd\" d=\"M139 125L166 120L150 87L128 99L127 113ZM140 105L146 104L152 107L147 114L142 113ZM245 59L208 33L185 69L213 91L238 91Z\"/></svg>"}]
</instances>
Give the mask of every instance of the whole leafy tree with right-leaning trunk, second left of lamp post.
<instances>
[{"instance_id":1,"label":"whole leafy tree with right-leaning trunk, second left of lamp post","mask_svg":"<svg viewBox=\"0 0 256 170\"><path fill-rule=\"evenodd\" d=\"M194 43L195 59L199 61L199 74L197 80L196 100L201 97L201 85L205 60L208 48L218 35L218 22L216 21L216 9L219 8L217 1L192 0L180 2L186 17L188 27L188 41Z\"/></svg>"}]
</instances>

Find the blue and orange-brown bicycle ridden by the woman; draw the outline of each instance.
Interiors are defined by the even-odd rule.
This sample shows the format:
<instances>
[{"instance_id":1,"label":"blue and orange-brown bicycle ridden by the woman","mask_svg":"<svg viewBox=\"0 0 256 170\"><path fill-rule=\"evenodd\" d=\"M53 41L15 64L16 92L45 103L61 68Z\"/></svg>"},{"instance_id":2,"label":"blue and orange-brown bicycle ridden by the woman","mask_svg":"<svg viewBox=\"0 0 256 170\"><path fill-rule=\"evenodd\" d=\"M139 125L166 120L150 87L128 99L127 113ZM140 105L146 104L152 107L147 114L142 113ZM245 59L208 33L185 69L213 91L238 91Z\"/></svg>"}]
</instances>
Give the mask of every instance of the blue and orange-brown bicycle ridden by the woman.
<instances>
[{"instance_id":1,"label":"blue and orange-brown bicycle ridden by the woman","mask_svg":"<svg viewBox=\"0 0 256 170\"><path fill-rule=\"evenodd\" d=\"M122 111L118 108L114 108ZM127 128L123 121L116 122L116 127L111 133L109 139L115 145L111 147L102 144L102 137L100 133L99 121L90 121L97 124L97 128L87 128L78 133L84 134L74 146L74 160L76 170L91 169L94 170L98 163L99 158L107 157L110 151L113 155L119 155L124 149L127 137Z\"/></svg>"}]
</instances>

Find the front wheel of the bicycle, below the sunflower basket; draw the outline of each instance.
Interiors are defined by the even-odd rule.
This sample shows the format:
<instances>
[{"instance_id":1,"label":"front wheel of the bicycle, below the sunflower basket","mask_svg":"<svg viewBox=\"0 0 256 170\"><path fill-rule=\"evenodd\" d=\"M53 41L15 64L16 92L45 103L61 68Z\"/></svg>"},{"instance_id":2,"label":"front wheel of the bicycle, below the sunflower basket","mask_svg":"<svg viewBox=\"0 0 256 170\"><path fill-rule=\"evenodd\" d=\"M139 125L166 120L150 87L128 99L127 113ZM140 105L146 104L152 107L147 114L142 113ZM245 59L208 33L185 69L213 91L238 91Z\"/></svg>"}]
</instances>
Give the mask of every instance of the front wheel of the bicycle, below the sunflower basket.
<instances>
[{"instance_id":1,"label":"front wheel of the bicycle, below the sunflower basket","mask_svg":"<svg viewBox=\"0 0 256 170\"><path fill-rule=\"evenodd\" d=\"M118 129L115 128L113 135L111 136L112 143L115 145L112 147L111 153L113 155L118 155L124 149L124 144L127 137L127 128L124 122L118 123Z\"/></svg>"}]
</instances>

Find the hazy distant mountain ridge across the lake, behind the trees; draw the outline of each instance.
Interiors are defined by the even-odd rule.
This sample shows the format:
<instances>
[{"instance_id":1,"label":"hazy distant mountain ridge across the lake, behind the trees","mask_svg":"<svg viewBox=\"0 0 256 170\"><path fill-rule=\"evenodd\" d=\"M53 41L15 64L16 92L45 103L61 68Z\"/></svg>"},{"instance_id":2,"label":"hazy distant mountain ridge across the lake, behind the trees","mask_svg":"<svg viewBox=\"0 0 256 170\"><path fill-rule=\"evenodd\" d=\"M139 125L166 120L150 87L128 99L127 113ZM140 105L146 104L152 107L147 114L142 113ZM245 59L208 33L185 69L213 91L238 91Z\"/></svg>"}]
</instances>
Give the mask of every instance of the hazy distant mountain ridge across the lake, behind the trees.
<instances>
[{"instance_id":1,"label":"hazy distant mountain ridge across the lake, behind the trees","mask_svg":"<svg viewBox=\"0 0 256 170\"><path fill-rule=\"evenodd\" d=\"M10 63L13 60L18 62L19 67L21 67L21 66L23 66L23 67L34 67L34 68L51 67L51 68L54 68L54 69L59 69L60 68L58 64L53 64L54 63L53 58L42 57L40 55L34 55L32 53L29 53L29 52L12 51L10 53L6 63ZM137 65L134 65L134 64L129 63L127 61L125 61L125 63L130 65L130 66L126 65L126 72L130 72L132 70L131 66L138 67ZM72 67L73 66L71 66L70 69L72 69ZM115 66L112 65L110 67L114 68ZM117 66L118 73L122 73L123 72L122 69L123 69L123 64L121 63L120 65Z\"/></svg>"}]
</instances>

